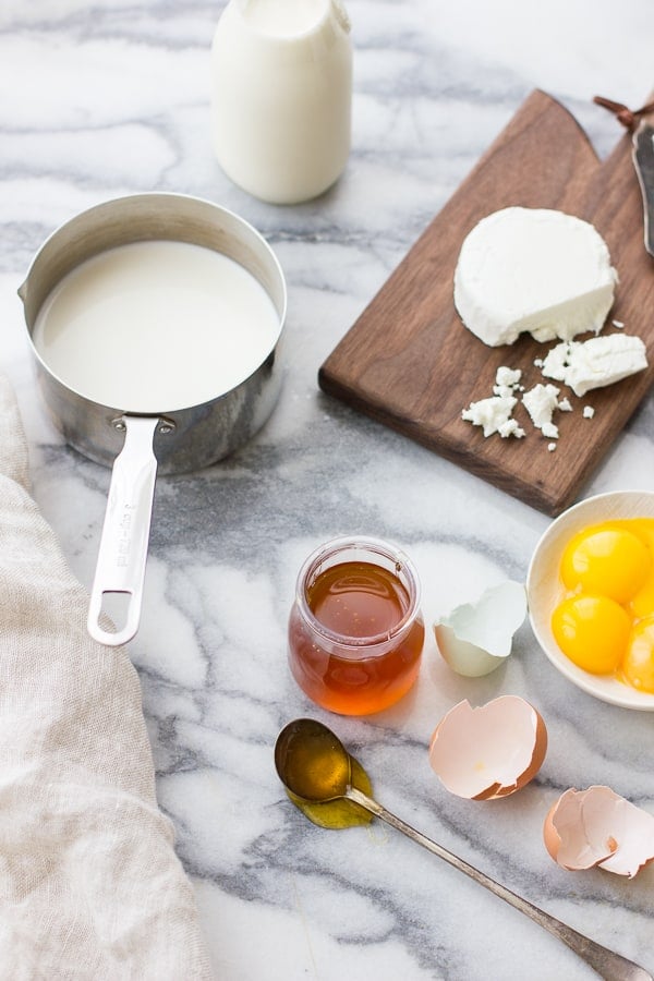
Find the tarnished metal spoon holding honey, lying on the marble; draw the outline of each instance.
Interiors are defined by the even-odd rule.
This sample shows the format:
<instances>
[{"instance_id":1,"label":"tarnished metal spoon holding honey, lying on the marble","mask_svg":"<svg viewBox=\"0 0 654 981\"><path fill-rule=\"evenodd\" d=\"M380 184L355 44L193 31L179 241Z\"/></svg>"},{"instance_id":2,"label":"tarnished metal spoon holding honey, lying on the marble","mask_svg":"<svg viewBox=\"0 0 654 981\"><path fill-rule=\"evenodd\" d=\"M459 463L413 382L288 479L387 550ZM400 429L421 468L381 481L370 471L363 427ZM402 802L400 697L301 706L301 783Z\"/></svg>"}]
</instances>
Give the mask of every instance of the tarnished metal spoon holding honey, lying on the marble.
<instances>
[{"instance_id":1,"label":"tarnished metal spoon holding honey, lying on the marble","mask_svg":"<svg viewBox=\"0 0 654 981\"><path fill-rule=\"evenodd\" d=\"M291 800L301 810L332 806L339 801L356 804L402 832L427 851L453 865L455 869L464 872L474 882L485 886L510 906L519 909L574 950L605 981L654 981L644 968L607 947L603 947L582 933L578 933L571 927L495 882L484 872L480 872L453 852L437 845L436 841L387 811L367 792L354 786L352 758L331 729L316 719L299 718L284 726L275 743L275 766L282 784L290 791ZM307 816L311 815L307 814ZM351 821L348 823L362 822ZM346 824L335 823L327 826L342 827Z\"/></svg>"}]
</instances>

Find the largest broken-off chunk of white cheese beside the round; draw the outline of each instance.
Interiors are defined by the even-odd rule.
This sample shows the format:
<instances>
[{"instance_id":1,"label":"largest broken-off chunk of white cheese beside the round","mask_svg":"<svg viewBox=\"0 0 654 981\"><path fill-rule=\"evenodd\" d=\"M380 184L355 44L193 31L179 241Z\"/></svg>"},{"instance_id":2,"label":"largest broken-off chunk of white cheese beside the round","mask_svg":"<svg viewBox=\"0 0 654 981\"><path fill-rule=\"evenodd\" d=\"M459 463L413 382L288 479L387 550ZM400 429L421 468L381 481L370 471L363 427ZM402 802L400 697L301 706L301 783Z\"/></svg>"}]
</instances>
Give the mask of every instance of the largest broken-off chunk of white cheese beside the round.
<instances>
[{"instance_id":1,"label":"largest broken-off chunk of white cheese beside the round","mask_svg":"<svg viewBox=\"0 0 654 981\"><path fill-rule=\"evenodd\" d=\"M588 341L564 341L545 358L543 375L569 385L574 395L604 388L647 367L640 337L609 334Z\"/></svg>"}]
</instances>

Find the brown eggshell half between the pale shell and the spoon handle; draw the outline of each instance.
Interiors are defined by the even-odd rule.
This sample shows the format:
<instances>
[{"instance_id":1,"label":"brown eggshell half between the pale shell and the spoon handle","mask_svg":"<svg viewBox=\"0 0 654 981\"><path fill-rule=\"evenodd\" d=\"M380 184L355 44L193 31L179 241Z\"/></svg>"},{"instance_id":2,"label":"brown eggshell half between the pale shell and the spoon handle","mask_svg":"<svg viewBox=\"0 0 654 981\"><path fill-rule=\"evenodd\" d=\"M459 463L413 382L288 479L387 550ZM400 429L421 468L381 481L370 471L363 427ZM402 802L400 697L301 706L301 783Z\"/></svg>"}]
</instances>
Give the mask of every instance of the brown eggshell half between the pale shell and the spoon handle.
<instances>
[{"instance_id":1,"label":"brown eggshell half between the pale shell and the spoon handle","mask_svg":"<svg viewBox=\"0 0 654 981\"><path fill-rule=\"evenodd\" d=\"M429 763L458 797L491 800L513 794L536 775L547 729L533 705L501 695L473 708L463 700L443 717L429 742Z\"/></svg>"}]
</instances>

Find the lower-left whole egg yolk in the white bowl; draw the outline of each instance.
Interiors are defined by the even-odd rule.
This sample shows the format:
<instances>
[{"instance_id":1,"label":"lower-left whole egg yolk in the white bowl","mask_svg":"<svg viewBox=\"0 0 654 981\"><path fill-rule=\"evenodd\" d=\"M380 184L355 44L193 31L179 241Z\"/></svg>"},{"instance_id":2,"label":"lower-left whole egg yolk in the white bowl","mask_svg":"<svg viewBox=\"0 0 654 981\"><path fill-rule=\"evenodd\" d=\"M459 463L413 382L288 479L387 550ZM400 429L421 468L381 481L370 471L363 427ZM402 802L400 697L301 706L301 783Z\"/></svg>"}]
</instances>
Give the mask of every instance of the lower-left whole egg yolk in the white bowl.
<instances>
[{"instance_id":1,"label":"lower-left whole egg yolk in the white bowl","mask_svg":"<svg viewBox=\"0 0 654 981\"><path fill-rule=\"evenodd\" d=\"M606 675L620 663L631 618L608 596L570 596L555 609L552 630L573 664L593 675Z\"/></svg>"}]
</instances>

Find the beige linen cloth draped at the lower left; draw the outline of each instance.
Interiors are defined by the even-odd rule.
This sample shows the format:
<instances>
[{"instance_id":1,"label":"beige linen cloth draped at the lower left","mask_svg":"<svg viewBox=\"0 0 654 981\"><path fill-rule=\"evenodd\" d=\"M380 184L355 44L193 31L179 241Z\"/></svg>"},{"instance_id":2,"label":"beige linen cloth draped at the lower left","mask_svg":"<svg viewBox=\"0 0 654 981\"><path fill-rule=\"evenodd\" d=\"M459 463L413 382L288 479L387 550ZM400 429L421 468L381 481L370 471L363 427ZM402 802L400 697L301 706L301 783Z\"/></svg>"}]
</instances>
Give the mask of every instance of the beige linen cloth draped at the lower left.
<instances>
[{"instance_id":1,"label":"beige linen cloth draped at the lower left","mask_svg":"<svg viewBox=\"0 0 654 981\"><path fill-rule=\"evenodd\" d=\"M29 496L0 376L0 978L204 981L138 679L88 637L87 604Z\"/></svg>"}]
</instances>

